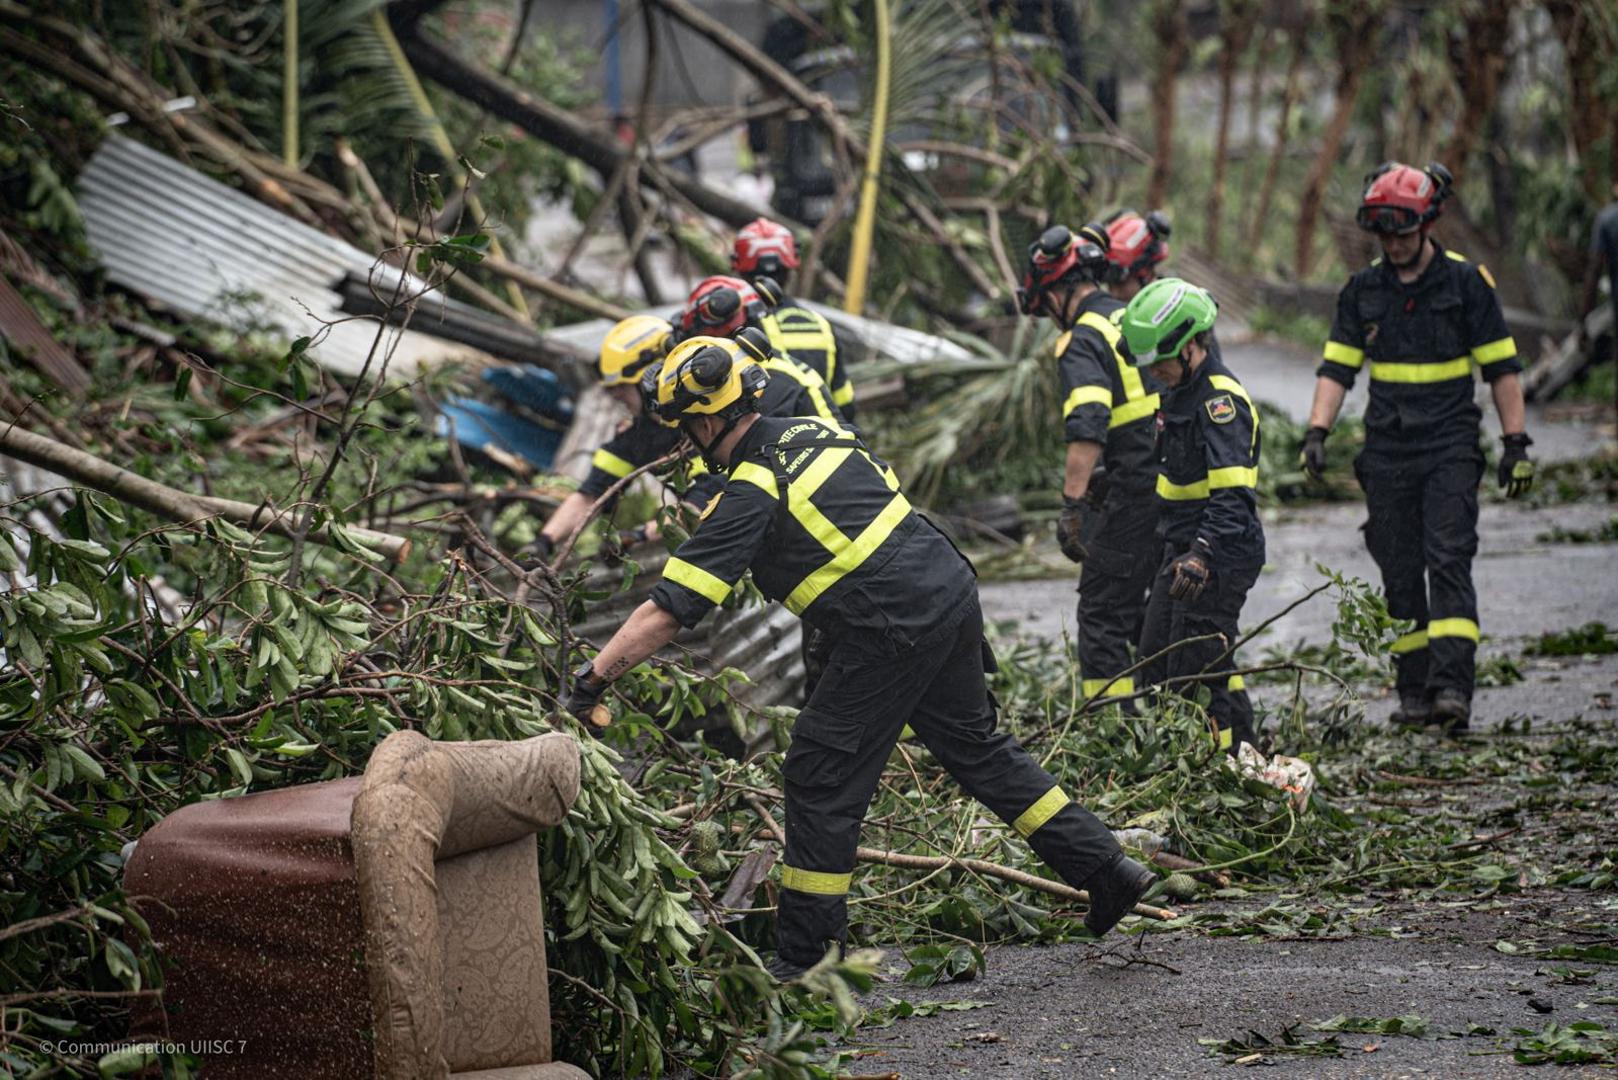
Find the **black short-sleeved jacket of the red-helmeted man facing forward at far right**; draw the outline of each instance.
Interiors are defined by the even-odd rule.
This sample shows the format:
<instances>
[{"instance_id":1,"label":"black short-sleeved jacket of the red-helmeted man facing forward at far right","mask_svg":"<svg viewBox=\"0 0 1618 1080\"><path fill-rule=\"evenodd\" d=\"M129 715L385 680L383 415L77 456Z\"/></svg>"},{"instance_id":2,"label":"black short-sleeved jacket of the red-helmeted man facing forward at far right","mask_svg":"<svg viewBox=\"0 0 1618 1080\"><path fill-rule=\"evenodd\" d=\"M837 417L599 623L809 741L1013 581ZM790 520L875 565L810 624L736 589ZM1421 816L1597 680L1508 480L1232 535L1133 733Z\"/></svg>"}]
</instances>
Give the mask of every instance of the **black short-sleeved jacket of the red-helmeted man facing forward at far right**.
<instances>
[{"instance_id":1,"label":"black short-sleeved jacket of the red-helmeted man facing forward at far right","mask_svg":"<svg viewBox=\"0 0 1618 1080\"><path fill-rule=\"evenodd\" d=\"M1367 364L1367 449L1477 447L1472 369L1493 382L1523 371L1489 269L1445 251L1409 285L1383 259L1348 279L1319 374L1345 387Z\"/></svg>"}]
</instances>

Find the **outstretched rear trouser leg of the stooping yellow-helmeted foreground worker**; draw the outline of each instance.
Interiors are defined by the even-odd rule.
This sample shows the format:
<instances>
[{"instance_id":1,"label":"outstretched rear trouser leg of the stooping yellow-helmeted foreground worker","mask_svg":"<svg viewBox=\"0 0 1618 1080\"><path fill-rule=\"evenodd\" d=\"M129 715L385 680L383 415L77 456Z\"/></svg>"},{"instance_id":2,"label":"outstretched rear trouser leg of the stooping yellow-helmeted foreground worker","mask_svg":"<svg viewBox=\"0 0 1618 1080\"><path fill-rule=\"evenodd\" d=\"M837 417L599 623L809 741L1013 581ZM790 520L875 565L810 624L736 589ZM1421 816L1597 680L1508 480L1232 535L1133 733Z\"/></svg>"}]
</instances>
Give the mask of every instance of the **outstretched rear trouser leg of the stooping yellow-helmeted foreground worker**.
<instances>
[{"instance_id":1,"label":"outstretched rear trouser leg of the stooping yellow-helmeted foreground worker","mask_svg":"<svg viewBox=\"0 0 1618 1080\"><path fill-rule=\"evenodd\" d=\"M1118 853L1118 842L1095 814L1068 801L1016 738L997 729L979 662L981 635L974 602L955 641L938 646L943 664L919 696L911 727L968 795L1026 836L1063 881L1084 887Z\"/></svg>"}]
</instances>

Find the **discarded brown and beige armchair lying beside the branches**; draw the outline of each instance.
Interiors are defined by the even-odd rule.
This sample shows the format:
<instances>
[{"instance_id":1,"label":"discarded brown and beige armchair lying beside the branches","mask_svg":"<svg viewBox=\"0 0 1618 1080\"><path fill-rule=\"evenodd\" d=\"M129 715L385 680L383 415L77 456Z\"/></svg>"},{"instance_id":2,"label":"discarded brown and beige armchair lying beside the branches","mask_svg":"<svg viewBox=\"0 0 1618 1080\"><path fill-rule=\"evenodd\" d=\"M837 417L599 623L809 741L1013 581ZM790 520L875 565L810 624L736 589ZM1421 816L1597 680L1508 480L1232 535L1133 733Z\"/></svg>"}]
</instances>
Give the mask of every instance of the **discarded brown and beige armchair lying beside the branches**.
<instances>
[{"instance_id":1,"label":"discarded brown and beige armchair lying beside the branches","mask_svg":"<svg viewBox=\"0 0 1618 1080\"><path fill-rule=\"evenodd\" d=\"M568 1080L550 1057L534 834L578 743L390 735L362 777L194 803L125 887L167 960L136 1033L209 1077Z\"/></svg>"}]
</instances>

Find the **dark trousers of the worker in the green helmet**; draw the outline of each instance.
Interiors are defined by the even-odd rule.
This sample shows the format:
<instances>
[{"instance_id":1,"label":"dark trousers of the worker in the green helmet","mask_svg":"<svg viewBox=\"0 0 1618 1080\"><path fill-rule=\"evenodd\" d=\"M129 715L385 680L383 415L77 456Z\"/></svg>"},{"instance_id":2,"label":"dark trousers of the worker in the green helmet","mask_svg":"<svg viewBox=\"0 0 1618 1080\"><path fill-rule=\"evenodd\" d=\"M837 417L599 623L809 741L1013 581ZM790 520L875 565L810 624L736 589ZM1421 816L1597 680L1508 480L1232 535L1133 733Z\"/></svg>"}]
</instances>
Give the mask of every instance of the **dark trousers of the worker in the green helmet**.
<instances>
[{"instance_id":1,"label":"dark trousers of the worker in the green helmet","mask_svg":"<svg viewBox=\"0 0 1618 1080\"><path fill-rule=\"evenodd\" d=\"M1246 682L1231 672L1236 670L1233 646L1241 636L1241 607L1247 602L1252 583L1259 580L1260 567L1215 568L1202 596L1191 602L1176 601L1168 594L1175 580L1170 567L1186 551L1173 544L1162 549L1152 599L1146 606L1146 628L1141 631L1141 656L1157 659L1142 674L1149 685L1199 675L1196 682L1175 683L1175 690L1189 696L1199 685L1209 688L1209 716L1218 725L1220 745L1233 748L1243 742L1257 743ZM1170 648L1180 641L1184 644Z\"/></svg>"}]
</instances>

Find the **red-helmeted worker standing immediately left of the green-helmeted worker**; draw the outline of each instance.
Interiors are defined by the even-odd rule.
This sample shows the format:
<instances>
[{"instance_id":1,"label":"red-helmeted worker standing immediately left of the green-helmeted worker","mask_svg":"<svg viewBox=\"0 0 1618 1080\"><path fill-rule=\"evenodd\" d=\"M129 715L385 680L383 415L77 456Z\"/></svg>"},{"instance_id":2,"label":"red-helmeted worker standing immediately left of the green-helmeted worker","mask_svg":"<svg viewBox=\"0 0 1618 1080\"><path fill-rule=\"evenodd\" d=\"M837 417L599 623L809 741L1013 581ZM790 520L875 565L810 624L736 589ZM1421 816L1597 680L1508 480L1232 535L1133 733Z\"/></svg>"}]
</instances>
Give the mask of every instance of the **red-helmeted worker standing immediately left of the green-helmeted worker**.
<instances>
[{"instance_id":1,"label":"red-helmeted worker standing immediately left of the green-helmeted worker","mask_svg":"<svg viewBox=\"0 0 1618 1080\"><path fill-rule=\"evenodd\" d=\"M1099 282L1107 233L1045 230L1029 246L1018 306L1065 330L1057 338L1068 440L1061 479L1061 552L1079 572L1079 680L1086 698L1133 695L1125 675L1141 640L1146 593L1157 573L1158 397L1125 351L1113 316L1123 304Z\"/></svg>"}]
</instances>

